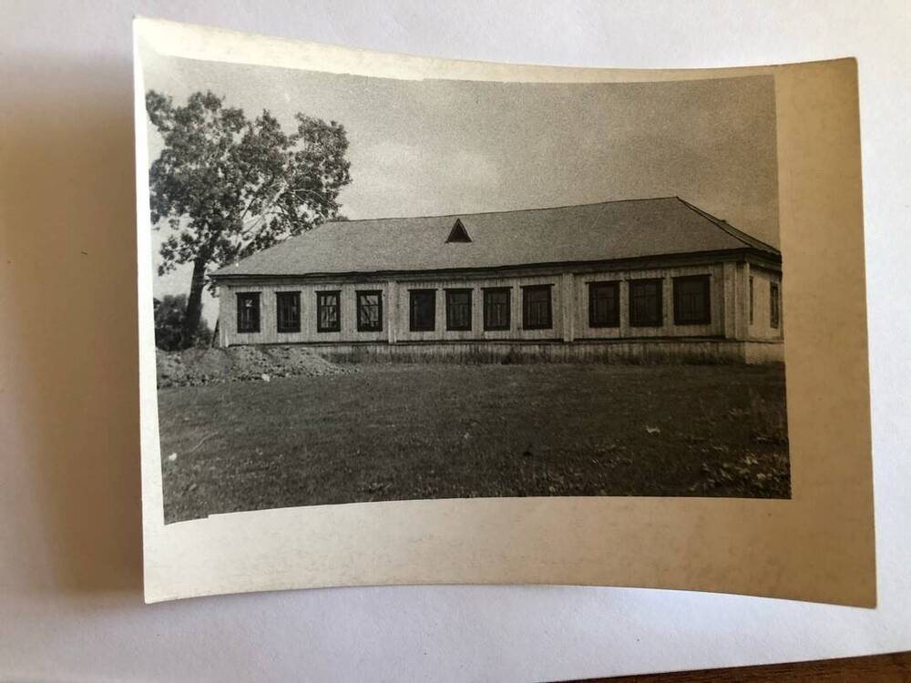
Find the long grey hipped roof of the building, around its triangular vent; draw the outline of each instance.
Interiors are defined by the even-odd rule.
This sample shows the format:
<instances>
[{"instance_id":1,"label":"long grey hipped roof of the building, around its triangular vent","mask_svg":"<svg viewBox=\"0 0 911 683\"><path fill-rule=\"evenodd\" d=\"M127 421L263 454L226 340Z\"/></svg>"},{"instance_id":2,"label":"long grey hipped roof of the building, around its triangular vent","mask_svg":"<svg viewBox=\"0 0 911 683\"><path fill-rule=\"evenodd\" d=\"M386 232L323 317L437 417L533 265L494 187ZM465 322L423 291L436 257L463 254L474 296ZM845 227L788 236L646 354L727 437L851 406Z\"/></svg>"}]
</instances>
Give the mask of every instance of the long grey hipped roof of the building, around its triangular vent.
<instances>
[{"instance_id":1,"label":"long grey hipped roof of the building, around its triangular vent","mask_svg":"<svg viewBox=\"0 0 911 683\"><path fill-rule=\"evenodd\" d=\"M446 238L460 219L470 242ZM484 269L700 251L780 252L676 197L324 223L215 277Z\"/></svg>"}]
</instances>

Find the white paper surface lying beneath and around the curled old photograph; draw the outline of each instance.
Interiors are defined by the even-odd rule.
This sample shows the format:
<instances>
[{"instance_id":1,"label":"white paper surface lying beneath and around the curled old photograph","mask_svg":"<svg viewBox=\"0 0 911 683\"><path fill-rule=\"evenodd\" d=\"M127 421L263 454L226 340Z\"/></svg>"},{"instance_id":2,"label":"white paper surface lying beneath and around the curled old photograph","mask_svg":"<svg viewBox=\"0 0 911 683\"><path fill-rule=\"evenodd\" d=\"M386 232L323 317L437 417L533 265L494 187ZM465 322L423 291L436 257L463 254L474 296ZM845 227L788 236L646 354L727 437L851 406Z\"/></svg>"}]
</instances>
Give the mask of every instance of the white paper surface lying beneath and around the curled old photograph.
<instances>
[{"instance_id":1,"label":"white paper surface lying beneath and around the curled old photograph","mask_svg":"<svg viewBox=\"0 0 911 683\"><path fill-rule=\"evenodd\" d=\"M142 604L131 252L134 13L432 56L699 67L857 56L879 607L612 588L346 588ZM911 647L904 3L7 2L0 173L0 678L586 678ZM96 198L87 203L86 197ZM91 209L86 209L87 204ZM68 209L74 207L74 209ZM10 220L15 216L15 224ZM26 216L28 220L19 220ZM117 250L113 249L117 247ZM41 311L15 292L46 291ZM67 335L89 317L91 333ZM49 353L72 350L68 362ZM135 352L135 351L134 351ZM79 401L105 386L105 403ZM38 422L48 406L57 421ZM43 413L41 412L43 410Z\"/></svg>"}]
</instances>

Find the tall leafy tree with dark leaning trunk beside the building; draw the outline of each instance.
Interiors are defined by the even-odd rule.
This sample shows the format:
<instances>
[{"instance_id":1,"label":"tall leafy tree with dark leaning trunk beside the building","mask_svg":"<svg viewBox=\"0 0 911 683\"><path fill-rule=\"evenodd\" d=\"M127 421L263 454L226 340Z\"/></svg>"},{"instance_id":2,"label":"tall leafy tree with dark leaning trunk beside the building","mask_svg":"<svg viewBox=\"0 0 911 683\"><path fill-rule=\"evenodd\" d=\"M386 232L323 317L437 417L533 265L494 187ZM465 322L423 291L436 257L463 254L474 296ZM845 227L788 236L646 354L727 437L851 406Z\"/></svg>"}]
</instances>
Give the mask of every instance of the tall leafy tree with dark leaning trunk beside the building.
<instances>
[{"instance_id":1,"label":"tall leafy tree with dark leaning trunk beside the building","mask_svg":"<svg viewBox=\"0 0 911 683\"><path fill-rule=\"evenodd\" d=\"M242 259L333 219L351 182L342 124L298 113L286 133L268 110L248 119L211 92L186 105L146 93L148 120L164 142L148 173L152 225L168 226L159 275L193 264L183 340L200 324L212 267Z\"/></svg>"}]
</instances>

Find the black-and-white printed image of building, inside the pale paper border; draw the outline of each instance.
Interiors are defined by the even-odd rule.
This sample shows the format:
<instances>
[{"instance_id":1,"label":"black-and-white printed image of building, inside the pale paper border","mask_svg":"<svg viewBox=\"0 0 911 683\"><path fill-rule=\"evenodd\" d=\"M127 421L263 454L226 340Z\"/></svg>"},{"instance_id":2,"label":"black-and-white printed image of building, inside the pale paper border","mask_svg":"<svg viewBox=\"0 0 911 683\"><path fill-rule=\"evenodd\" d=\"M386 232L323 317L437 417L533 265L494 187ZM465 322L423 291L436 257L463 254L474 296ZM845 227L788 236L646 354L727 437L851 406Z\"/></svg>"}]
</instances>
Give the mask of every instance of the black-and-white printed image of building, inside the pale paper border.
<instances>
[{"instance_id":1,"label":"black-and-white printed image of building, inside the pale paper border","mask_svg":"<svg viewBox=\"0 0 911 683\"><path fill-rule=\"evenodd\" d=\"M144 79L166 523L791 496L773 76Z\"/></svg>"}]
</instances>

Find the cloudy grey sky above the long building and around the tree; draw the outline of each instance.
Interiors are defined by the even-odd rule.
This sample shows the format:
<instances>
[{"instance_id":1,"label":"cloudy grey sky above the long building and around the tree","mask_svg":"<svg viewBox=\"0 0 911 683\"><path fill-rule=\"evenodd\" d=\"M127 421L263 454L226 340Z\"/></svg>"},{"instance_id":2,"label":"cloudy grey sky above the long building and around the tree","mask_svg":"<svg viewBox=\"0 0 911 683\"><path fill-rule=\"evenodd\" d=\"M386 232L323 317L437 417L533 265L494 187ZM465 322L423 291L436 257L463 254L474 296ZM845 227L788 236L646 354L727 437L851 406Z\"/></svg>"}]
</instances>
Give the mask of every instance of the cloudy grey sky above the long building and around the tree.
<instances>
[{"instance_id":1,"label":"cloudy grey sky above the long building and around the tree","mask_svg":"<svg viewBox=\"0 0 911 683\"><path fill-rule=\"evenodd\" d=\"M350 219L527 209L677 195L776 247L772 76L634 84L405 81L175 58L144 60L147 88L197 90L249 117L342 123ZM149 134L149 158L160 138ZM155 261L165 229L153 239ZM189 266L155 294L189 291ZM204 315L214 323L208 295Z\"/></svg>"}]
</instances>

